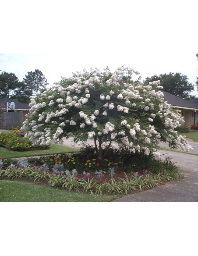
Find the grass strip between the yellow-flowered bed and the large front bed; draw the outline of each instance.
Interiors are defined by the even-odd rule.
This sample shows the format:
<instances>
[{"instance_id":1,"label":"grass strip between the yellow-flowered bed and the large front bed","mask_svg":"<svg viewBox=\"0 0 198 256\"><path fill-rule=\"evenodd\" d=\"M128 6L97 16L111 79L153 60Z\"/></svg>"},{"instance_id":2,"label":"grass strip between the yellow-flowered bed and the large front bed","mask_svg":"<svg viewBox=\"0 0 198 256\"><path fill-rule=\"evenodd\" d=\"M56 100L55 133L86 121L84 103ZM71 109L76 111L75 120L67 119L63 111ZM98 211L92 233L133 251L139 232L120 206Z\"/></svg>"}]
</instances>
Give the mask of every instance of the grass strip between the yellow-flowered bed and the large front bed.
<instances>
[{"instance_id":1,"label":"grass strip between the yellow-flowered bed and the large front bed","mask_svg":"<svg viewBox=\"0 0 198 256\"><path fill-rule=\"evenodd\" d=\"M53 154L63 154L78 152L78 149L69 148L62 145L50 144L50 149L46 150L34 150L34 151L14 151L0 147L0 159L1 158L18 158L18 157L31 157L31 156L44 156Z\"/></svg>"}]
</instances>

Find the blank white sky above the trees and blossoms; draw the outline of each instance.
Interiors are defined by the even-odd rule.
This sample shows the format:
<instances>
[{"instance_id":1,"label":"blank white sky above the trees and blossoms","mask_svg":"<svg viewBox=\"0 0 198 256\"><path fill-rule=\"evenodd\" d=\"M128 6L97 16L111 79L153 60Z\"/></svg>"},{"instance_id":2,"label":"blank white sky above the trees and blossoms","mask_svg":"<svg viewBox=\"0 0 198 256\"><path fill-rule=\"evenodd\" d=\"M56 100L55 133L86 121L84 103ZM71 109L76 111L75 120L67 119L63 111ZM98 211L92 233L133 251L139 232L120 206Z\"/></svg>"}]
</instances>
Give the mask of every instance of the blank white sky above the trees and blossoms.
<instances>
[{"instance_id":1,"label":"blank white sky above the trees and blossoms","mask_svg":"<svg viewBox=\"0 0 198 256\"><path fill-rule=\"evenodd\" d=\"M72 0L3 3L0 70L39 69L49 85L72 72L125 64L142 80L198 76L197 1ZM195 94L198 94L196 91Z\"/></svg>"}]
</instances>

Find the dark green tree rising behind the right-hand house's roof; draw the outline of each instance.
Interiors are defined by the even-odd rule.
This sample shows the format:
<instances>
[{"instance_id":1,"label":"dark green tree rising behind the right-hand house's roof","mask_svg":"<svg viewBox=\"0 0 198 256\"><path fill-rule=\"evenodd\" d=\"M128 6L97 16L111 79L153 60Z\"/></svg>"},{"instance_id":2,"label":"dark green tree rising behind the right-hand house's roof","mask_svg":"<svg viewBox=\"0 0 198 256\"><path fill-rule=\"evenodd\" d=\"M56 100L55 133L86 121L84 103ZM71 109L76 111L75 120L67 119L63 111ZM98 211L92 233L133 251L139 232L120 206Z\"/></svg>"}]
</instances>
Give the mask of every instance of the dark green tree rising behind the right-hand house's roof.
<instances>
[{"instance_id":1,"label":"dark green tree rising behind the right-hand house's roof","mask_svg":"<svg viewBox=\"0 0 198 256\"><path fill-rule=\"evenodd\" d=\"M180 98L191 100L194 98L190 93L194 90L194 85L188 82L186 75L181 73L160 74L153 75L151 78L147 77L144 82L154 82L160 80L160 85L163 86L165 92L169 92Z\"/></svg>"}]
</instances>

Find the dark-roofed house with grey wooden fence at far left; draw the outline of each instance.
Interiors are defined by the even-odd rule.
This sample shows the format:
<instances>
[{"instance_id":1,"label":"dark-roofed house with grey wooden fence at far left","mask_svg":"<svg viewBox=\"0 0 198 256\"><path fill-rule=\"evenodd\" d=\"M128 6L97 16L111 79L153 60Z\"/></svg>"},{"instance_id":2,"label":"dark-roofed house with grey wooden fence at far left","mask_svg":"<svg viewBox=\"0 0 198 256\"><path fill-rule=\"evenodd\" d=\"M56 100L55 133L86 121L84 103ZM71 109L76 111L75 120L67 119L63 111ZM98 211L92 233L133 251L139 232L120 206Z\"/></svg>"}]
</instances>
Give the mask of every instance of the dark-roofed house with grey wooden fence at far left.
<instances>
[{"instance_id":1,"label":"dark-roofed house with grey wooden fence at far left","mask_svg":"<svg viewBox=\"0 0 198 256\"><path fill-rule=\"evenodd\" d=\"M7 103L14 102L14 109L10 109ZM30 107L27 104L21 103L18 100L13 100L10 98L0 99L0 104L4 104L5 113L4 113L4 122L1 128L11 129L19 127L21 128L23 122L26 119L26 114L29 113Z\"/></svg>"}]
</instances>

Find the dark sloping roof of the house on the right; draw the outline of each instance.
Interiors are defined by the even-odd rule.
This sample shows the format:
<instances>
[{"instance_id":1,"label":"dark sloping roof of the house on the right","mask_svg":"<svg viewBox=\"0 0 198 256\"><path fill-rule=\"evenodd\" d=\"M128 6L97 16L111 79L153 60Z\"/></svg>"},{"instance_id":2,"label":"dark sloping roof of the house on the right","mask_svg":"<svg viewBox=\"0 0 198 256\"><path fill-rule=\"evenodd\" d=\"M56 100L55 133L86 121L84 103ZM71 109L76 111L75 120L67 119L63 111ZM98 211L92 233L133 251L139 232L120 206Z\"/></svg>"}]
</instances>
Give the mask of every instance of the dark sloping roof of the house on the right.
<instances>
[{"instance_id":1,"label":"dark sloping roof of the house on the right","mask_svg":"<svg viewBox=\"0 0 198 256\"><path fill-rule=\"evenodd\" d=\"M164 100L167 101L167 103L169 103L173 107L198 110L198 103L192 102L192 100L184 100L178 96L170 94L169 92L162 92L164 94Z\"/></svg>"}]
</instances>

